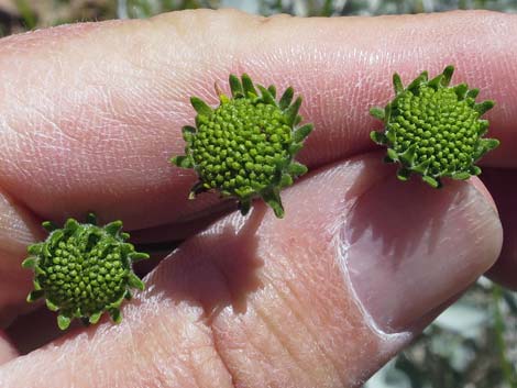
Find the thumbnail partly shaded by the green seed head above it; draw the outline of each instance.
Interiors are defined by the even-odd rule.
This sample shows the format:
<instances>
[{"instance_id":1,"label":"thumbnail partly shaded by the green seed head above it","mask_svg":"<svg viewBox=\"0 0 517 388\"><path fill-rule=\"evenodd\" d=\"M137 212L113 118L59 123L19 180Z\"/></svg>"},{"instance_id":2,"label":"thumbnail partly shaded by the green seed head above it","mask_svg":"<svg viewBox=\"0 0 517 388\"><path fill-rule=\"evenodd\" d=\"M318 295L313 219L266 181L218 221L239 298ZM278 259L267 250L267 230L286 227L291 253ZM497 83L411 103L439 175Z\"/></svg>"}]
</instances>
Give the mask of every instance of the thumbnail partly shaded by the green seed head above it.
<instances>
[{"instance_id":1,"label":"thumbnail partly shaded by the green seed head above it","mask_svg":"<svg viewBox=\"0 0 517 388\"><path fill-rule=\"evenodd\" d=\"M358 198L341 232L350 282L371 323L410 330L496 259L501 223L469 182L440 190L386 179Z\"/></svg>"}]
</instances>

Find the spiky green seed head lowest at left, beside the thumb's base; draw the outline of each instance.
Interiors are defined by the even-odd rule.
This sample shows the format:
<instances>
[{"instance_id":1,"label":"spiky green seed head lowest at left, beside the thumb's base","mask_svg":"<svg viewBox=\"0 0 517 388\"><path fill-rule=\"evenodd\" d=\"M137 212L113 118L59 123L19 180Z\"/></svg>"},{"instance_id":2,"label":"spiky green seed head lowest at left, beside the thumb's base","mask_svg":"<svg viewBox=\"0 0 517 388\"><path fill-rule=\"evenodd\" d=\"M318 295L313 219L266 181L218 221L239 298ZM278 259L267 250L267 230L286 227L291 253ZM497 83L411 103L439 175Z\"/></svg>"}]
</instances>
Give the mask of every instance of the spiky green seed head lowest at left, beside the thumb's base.
<instances>
[{"instance_id":1,"label":"spiky green seed head lowest at left, beside the thumb's base","mask_svg":"<svg viewBox=\"0 0 517 388\"><path fill-rule=\"evenodd\" d=\"M29 246L31 256L22 263L34 270L34 290L28 301L44 298L48 309L58 311L62 330L74 318L97 323L105 311L120 322L120 306L131 299L130 288L144 288L132 263L148 258L125 242L129 234L122 232L122 222L97 226L95 215L89 214L84 224L68 219L63 229L48 221L43 226L51 232L48 237Z\"/></svg>"}]
</instances>

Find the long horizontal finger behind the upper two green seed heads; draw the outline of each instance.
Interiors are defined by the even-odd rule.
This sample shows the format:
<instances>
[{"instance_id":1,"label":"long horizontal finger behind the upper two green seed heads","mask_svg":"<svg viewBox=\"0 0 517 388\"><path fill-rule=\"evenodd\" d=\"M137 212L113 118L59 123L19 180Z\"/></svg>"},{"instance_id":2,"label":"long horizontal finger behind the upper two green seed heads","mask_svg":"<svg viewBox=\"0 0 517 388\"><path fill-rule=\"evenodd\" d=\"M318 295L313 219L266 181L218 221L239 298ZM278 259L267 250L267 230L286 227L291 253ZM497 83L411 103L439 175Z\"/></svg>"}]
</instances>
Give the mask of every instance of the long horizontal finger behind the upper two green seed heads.
<instances>
[{"instance_id":1,"label":"long horizontal finger behind the upper two green seed heads","mask_svg":"<svg viewBox=\"0 0 517 388\"><path fill-rule=\"evenodd\" d=\"M183 153L189 97L216 103L213 82L228 89L228 75L243 71L305 97L302 114L317 130L301 159L317 166L372 147L377 124L367 111L392 98L395 70L408 81L452 63L457 81L498 102L491 119L503 145L488 160L515 164L516 18L199 11L13 36L0 43L0 186L45 219L95 210L143 229L201 218L217 198L186 201L195 178L167 160Z\"/></svg>"}]
</instances>

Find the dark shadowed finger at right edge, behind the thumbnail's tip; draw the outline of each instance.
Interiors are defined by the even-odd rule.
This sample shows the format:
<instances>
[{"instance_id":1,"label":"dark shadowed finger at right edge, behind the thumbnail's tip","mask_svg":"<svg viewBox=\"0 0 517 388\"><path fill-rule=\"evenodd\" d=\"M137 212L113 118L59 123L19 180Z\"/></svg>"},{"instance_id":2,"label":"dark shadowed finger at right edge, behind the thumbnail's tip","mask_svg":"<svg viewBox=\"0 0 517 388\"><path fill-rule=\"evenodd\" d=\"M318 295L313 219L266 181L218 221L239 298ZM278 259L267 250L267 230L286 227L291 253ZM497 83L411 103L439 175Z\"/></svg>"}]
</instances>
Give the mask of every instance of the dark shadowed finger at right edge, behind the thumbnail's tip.
<instances>
[{"instance_id":1,"label":"dark shadowed finger at right edge, behind the thumbnail's tip","mask_svg":"<svg viewBox=\"0 0 517 388\"><path fill-rule=\"evenodd\" d=\"M505 231L501 257L488 276L506 287L517 289L517 171L490 168L484 171L482 179L497 203Z\"/></svg>"}]
</instances>

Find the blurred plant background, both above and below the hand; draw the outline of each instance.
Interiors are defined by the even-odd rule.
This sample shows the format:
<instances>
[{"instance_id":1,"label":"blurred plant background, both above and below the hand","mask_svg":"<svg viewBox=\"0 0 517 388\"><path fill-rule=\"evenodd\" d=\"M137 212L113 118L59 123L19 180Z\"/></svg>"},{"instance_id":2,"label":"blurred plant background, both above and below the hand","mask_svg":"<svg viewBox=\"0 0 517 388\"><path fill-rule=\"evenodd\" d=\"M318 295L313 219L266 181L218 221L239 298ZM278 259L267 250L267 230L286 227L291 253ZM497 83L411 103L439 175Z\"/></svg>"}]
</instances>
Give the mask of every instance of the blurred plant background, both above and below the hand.
<instances>
[{"instance_id":1,"label":"blurred plant background, both above and below the hand","mask_svg":"<svg viewBox=\"0 0 517 388\"><path fill-rule=\"evenodd\" d=\"M517 0L0 0L0 34L222 5L305 16L517 11ZM517 296L481 279L365 388L517 388L516 370Z\"/></svg>"}]
</instances>

